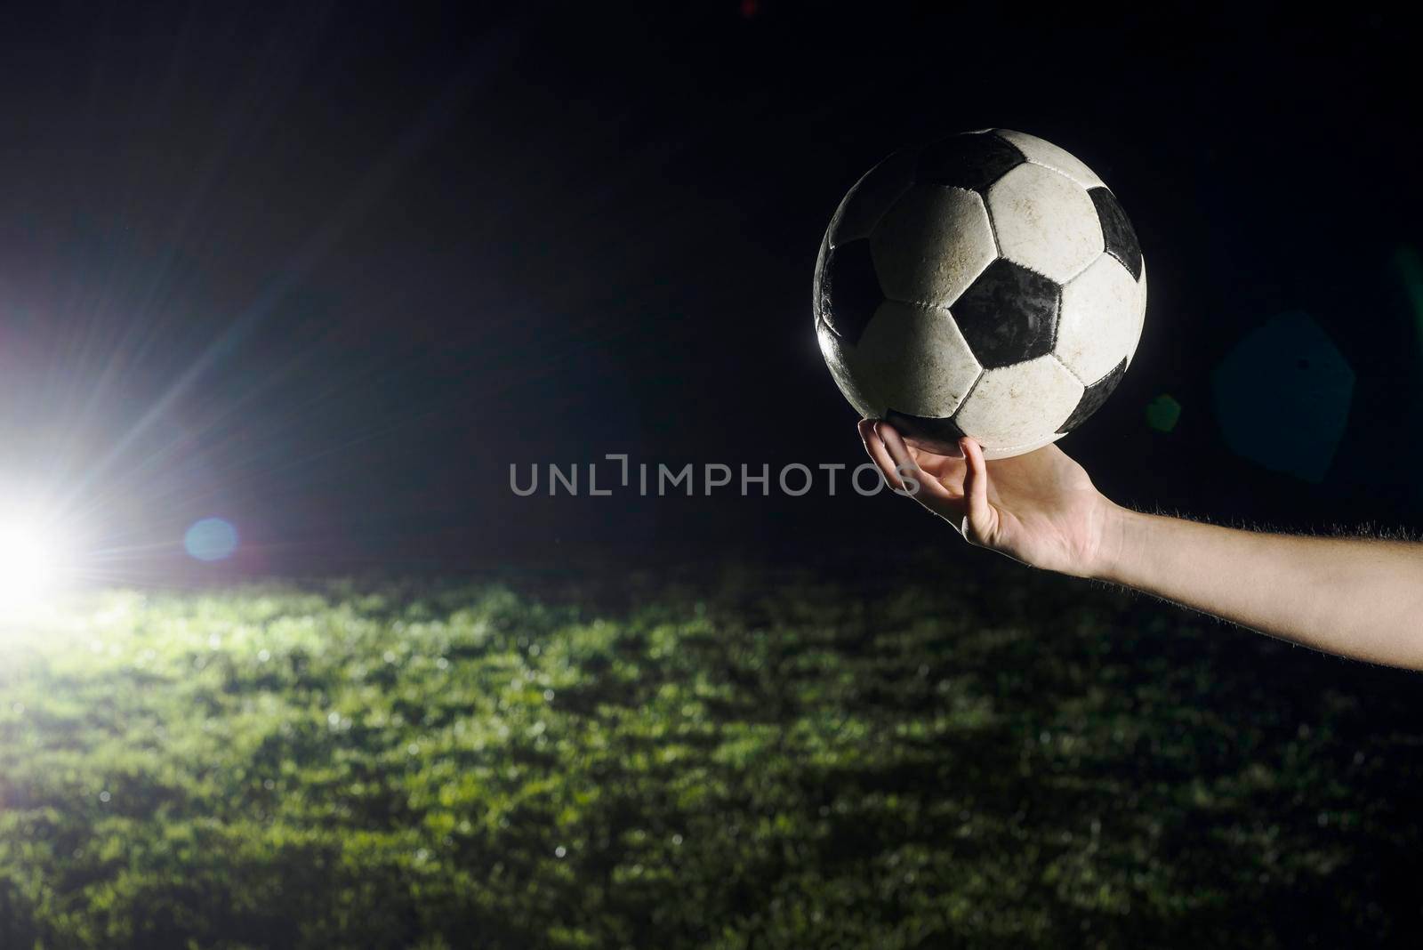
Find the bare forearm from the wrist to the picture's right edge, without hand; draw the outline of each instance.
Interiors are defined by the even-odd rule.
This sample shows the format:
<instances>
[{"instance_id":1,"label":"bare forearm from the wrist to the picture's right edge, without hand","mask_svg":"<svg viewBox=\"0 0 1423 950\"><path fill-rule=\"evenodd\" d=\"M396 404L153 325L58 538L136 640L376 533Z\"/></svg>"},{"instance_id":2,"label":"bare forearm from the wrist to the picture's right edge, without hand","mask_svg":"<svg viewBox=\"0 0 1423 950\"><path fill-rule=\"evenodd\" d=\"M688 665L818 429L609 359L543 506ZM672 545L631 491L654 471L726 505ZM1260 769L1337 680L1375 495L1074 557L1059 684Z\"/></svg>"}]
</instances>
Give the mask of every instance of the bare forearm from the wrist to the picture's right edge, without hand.
<instances>
[{"instance_id":1,"label":"bare forearm from the wrist to the picture's right edge, without hand","mask_svg":"<svg viewBox=\"0 0 1423 950\"><path fill-rule=\"evenodd\" d=\"M1328 653L1423 668L1423 545L1269 535L1114 505L1093 576Z\"/></svg>"}]
</instances>

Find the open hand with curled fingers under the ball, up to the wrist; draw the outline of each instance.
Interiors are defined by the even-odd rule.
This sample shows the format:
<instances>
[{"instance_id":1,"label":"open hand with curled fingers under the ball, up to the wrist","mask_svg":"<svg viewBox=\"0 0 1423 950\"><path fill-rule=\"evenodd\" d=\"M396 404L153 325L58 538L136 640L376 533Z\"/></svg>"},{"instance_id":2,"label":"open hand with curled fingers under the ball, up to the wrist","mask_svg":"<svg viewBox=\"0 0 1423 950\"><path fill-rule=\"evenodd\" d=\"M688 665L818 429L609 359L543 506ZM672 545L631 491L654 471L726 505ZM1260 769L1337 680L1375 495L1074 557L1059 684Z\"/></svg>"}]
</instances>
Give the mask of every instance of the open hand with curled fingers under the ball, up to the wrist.
<instances>
[{"instance_id":1,"label":"open hand with curled fingers under the ball, up to the wrist","mask_svg":"<svg viewBox=\"0 0 1423 950\"><path fill-rule=\"evenodd\" d=\"M962 458L909 445L877 420L859 421L859 438L891 488L909 489L970 545L1076 577L1099 572L1121 509L1056 445L986 462L966 437Z\"/></svg>"}]
</instances>

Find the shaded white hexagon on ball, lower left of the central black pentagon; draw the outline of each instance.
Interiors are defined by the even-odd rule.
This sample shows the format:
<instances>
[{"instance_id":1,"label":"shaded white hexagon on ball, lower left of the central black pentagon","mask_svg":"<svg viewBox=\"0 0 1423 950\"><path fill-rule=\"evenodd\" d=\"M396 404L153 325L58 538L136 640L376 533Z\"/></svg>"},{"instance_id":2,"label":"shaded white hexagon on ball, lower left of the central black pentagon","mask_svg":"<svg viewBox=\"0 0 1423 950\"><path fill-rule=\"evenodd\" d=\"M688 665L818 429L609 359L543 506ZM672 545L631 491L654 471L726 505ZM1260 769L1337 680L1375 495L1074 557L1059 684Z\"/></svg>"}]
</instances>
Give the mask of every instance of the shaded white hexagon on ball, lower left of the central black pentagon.
<instances>
[{"instance_id":1,"label":"shaded white hexagon on ball, lower left of the central black pentagon","mask_svg":"<svg viewBox=\"0 0 1423 950\"><path fill-rule=\"evenodd\" d=\"M885 300L865 327L850 368L875 415L952 415L980 367L948 310Z\"/></svg>"}]
</instances>

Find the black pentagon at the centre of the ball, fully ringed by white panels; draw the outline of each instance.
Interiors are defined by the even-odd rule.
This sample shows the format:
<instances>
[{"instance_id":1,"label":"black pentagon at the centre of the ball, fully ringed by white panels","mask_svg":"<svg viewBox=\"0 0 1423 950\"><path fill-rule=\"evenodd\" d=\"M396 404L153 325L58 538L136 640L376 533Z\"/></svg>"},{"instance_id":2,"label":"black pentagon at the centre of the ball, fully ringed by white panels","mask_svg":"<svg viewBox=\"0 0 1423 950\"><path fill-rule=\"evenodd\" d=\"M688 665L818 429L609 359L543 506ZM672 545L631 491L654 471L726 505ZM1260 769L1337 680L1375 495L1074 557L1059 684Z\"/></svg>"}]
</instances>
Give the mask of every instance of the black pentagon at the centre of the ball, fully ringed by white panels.
<instances>
[{"instance_id":1,"label":"black pentagon at the centre of the ball, fully ringed by white panels","mask_svg":"<svg viewBox=\"0 0 1423 950\"><path fill-rule=\"evenodd\" d=\"M983 368L1053 351L1062 287L1052 277L999 257L949 310Z\"/></svg>"}]
</instances>

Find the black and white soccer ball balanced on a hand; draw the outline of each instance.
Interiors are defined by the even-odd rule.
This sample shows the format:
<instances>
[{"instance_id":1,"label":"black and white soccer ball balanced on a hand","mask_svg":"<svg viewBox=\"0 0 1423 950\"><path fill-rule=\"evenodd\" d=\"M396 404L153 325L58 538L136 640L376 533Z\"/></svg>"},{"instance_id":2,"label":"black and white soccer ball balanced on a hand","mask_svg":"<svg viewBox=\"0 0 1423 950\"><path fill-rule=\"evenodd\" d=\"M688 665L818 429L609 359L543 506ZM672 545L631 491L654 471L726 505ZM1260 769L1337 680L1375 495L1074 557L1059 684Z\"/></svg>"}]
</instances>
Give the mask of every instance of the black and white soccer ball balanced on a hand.
<instances>
[{"instance_id":1,"label":"black and white soccer ball balanced on a hand","mask_svg":"<svg viewBox=\"0 0 1423 950\"><path fill-rule=\"evenodd\" d=\"M958 455L1054 442L1121 381L1146 260L1116 196L1040 138L905 148L840 202L815 262L815 333L858 412Z\"/></svg>"}]
</instances>

